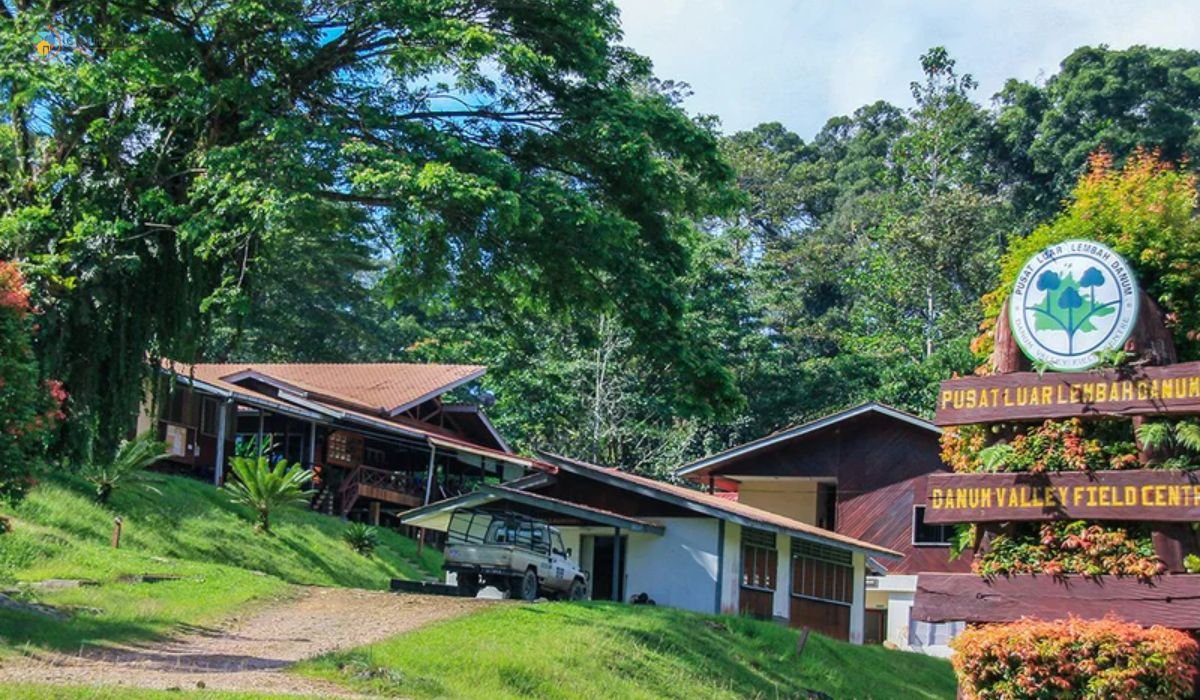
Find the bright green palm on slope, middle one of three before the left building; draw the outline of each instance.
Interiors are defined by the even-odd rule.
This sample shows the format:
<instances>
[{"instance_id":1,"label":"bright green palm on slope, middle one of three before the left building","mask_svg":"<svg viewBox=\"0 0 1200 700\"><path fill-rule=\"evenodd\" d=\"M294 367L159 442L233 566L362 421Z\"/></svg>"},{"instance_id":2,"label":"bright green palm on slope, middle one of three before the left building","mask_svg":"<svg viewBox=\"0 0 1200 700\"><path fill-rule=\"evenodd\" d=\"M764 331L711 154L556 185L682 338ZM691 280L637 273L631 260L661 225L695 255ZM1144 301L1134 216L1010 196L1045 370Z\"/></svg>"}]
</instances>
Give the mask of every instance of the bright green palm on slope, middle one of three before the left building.
<instances>
[{"instance_id":1,"label":"bright green palm on slope, middle one of three before the left building","mask_svg":"<svg viewBox=\"0 0 1200 700\"><path fill-rule=\"evenodd\" d=\"M229 461L234 479L224 489L234 503L253 510L258 516L256 530L270 534L271 511L299 508L308 503L316 491L306 487L312 481L312 469L300 462L278 460L274 465L269 450L259 449L257 455L239 455Z\"/></svg>"}]
</instances>

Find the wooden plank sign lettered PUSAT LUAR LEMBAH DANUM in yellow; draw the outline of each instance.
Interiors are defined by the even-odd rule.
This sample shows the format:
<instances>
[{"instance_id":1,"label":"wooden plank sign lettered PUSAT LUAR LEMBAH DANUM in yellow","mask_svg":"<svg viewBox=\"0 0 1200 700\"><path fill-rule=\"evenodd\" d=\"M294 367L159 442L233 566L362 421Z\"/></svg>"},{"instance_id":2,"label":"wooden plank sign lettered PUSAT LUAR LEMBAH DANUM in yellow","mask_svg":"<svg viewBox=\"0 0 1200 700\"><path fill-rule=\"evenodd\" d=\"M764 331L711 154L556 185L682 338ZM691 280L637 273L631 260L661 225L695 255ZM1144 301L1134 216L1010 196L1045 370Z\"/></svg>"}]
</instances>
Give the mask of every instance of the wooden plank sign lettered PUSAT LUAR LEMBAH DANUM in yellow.
<instances>
[{"instance_id":1,"label":"wooden plank sign lettered PUSAT LUAR LEMBAH DANUM in yellow","mask_svg":"<svg viewBox=\"0 0 1200 700\"><path fill-rule=\"evenodd\" d=\"M947 379L937 395L934 423L1189 413L1200 413L1200 363Z\"/></svg>"}]
</instances>

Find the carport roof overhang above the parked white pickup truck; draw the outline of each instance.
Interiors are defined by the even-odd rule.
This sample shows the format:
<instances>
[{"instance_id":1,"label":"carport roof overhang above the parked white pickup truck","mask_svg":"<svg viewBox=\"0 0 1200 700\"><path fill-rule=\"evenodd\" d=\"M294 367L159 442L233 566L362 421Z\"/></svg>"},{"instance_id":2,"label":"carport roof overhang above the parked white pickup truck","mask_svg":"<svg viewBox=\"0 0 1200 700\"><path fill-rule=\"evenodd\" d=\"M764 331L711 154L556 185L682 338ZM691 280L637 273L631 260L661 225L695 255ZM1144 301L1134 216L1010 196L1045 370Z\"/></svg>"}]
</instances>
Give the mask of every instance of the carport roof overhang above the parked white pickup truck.
<instances>
[{"instance_id":1,"label":"carport roof overhang above the parked white pickup truck","mask_svg":"<svg viewBox=\"0 0 1200 700\"><path fill-rule=\"evenodd\" d=\"M455 510L500 503L516 503L535 511L563 515L594 526L619 527L630 532L658 536L666 532L661 525L506 486L482 486L470 493L407 510L401 513L398 517L404 525L442 530L442 526L449 522L449 515Z\"/></svg>"}]
</instances>

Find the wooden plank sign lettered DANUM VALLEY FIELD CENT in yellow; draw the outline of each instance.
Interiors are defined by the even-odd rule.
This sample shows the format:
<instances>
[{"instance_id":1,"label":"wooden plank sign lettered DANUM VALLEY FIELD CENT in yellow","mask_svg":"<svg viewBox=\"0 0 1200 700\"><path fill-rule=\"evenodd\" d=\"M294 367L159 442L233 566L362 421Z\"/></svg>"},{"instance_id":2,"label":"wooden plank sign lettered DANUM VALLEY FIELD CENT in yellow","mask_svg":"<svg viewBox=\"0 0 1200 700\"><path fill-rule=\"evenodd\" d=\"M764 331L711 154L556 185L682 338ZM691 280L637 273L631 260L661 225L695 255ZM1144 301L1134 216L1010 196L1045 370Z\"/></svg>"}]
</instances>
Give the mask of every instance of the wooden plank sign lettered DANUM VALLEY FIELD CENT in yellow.
<instances>
[{"instance_id":1,"label":"wooden plank sign lettered DANUM VALLEY FIELD CENT in yellow","mask_svg":"<svg viewBox=\"0 0 1200 700\"><path fill-rule=\"evenodd\" d=\"M1200 521L1200 474L1169 469L930 474L925 522Z\"/></svg>"}]
</instances>

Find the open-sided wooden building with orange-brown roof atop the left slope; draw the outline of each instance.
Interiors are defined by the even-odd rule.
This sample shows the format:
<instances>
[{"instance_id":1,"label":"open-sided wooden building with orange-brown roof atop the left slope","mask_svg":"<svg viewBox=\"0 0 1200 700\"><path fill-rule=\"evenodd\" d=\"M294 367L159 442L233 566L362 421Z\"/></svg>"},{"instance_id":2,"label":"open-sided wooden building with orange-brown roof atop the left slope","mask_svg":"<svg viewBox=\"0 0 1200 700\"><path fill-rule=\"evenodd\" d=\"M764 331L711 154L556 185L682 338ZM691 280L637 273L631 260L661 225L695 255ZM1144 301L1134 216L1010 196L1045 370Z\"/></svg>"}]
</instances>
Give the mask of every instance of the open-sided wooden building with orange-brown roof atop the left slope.
<instances>
[{"instance_id":1,"label":"open-sided wooden building with orange-brown roof atop the left slope","mask_svg":"<svg viewBox=\"0 0 1200 700\"><path fill-rule=\"evenodd\" d=\"M168 443L169 468L215 484L236 450L270 444L317 472L313 508L378 523L536 469L481 409L444 400L484 372L401 363L167 365L138 431Z\"/></svg>"}]
</instances>

